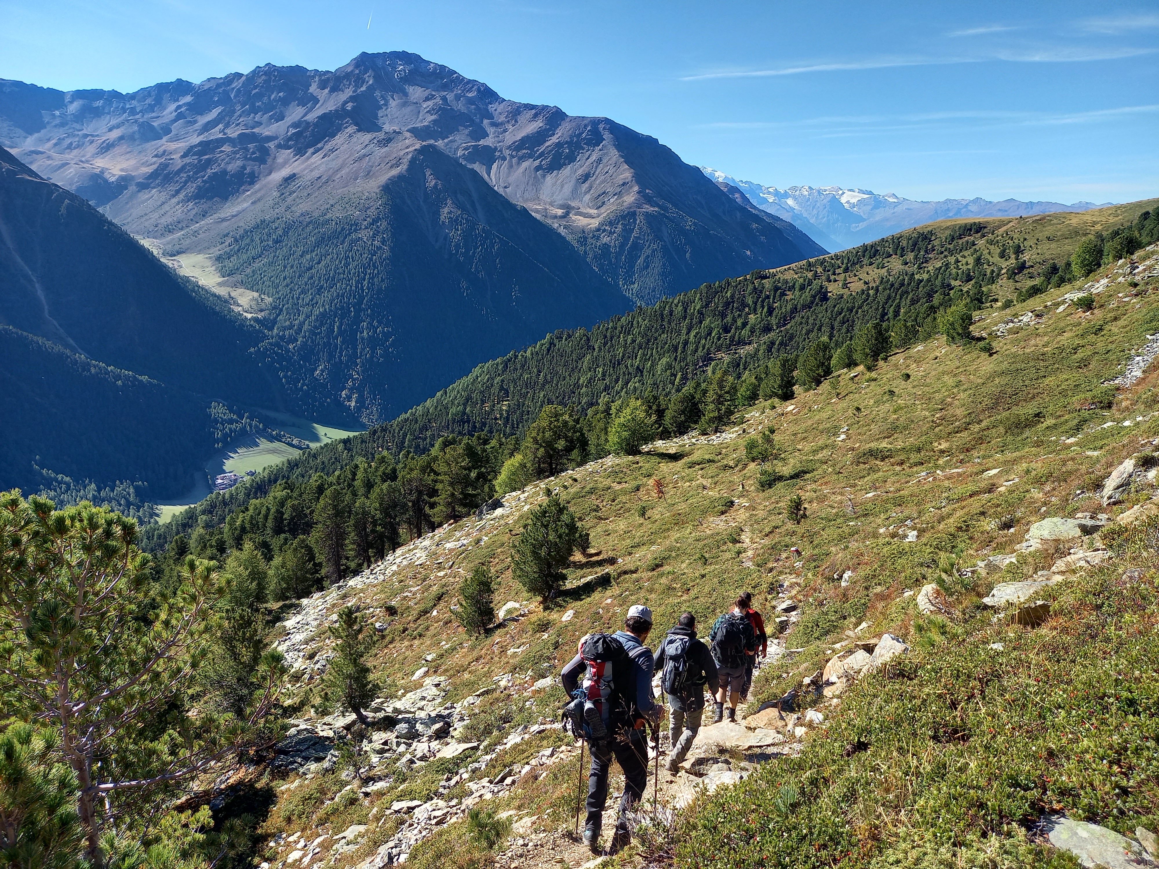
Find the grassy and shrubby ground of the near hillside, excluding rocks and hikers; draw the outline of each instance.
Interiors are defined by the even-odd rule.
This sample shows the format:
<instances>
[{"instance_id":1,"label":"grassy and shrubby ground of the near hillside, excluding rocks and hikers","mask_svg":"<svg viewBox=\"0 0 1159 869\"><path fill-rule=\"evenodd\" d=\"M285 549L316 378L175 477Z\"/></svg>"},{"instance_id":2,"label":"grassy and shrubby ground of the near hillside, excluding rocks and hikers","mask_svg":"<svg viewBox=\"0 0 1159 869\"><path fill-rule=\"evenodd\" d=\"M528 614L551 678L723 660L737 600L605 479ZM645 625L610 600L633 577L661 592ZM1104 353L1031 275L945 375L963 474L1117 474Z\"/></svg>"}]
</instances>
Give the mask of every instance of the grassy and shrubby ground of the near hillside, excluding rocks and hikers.
<instances>
[{"instance_id":1,"label":"grassy and shrubby ground of the near hillside, excluding rocks and hikers","mask_svg":"<svg viewBox=\"0 0 1159 869\"><path fill-rule=\"evenodd\" d=\"M486 528L468 520L440 531L425 543L425 563L384 570L378 582L343 592L350 603L400 608L376 671L388 693L409 688L410 674L433 652L428 666L451 678L451 700L515 673L511 693L489 698L472 724L474 737L497 738L515 724L554 718L557 688L532 695L531 706L517 689L557 672L582 634L615 628L630 603L649 604L666 626L685 608L707 620L741 589L757 592L758 608L768 612L787 582L802 601L788 644L802 651L763 671L753 700L800 685L862 620L872 626L866 635L890 630L914 652L888 674L863 680L838 707L824 706L829 723L800 759L765 765L746 783L698 804L680 831L680 864L1071 866L1023 832L1042 811L1062 809L1121 831L1154 828L1159 604L1151 538L1139 532L1118 541L1110 567L1058 586L1049 594L1058 601L1056 618L1037 630L994 625L977 600L994 582L1049 568L1057 553L1025 554L989 580L954 570L955 560L961 568L1011 552L1040 518L1101 511L1091 492L1140 450L1140 439L1159 437L1159 417L1101 428L1159 409L1156 375L1120 394L1109 410L1080 409L1109 399L1101 382L1145 335L1159 331L1159 295L1145 292L1154 280L1137 298L1118 298L1128 290L1120 285L1088 315L1073 306L1056 313L1057 297L1071 289L985 312L976 330L1027 309L1042 315L996 339L993 356L939 338L786 406L758 406L736 430L741 437L691 438L547 481L600 550L574 564L573 579L607 567L611 582L578 584L546 613L532 604L529 618L483 638L465 636L447 605L478 563L500 576L497 605L527 600L509 570L519 505ZM792 479L760 491L743 438L767 425L777 432L774 463ZM1079 439L1059 443L1070 437ZM653 480L663 483L663 499ZM793 492L809 510L800 526L783 514ZM537 487L523 503L540 497ZM899 530L916 530L917 541L903 542ZM438 548L451 538L474 545ZM794 546L800 556L789 553ZM1144 572L1121 580L1125 567ZM832 577L845 570L853 578L843 587ZM917 615L903 591L926 582L941 582L954 596L958 621ZM563 622L569 608L575 618ZM1004 650L991 649L993 642ZM314 700L307 689L304 708ZM552 740L561 737L529 740L495 764ZM318 779L309 784L316 805L283 799L269 828L338 831L350 818L373 825L376 804L430 793L443 773L411 773L333 820L336 809L318 806L344 783L336 774ZM571 775L555 769L493 808L533 809L538 823L566 826ZM353 854L365 856L389 833L382 821Z\"/></svg>"}]
</instances>

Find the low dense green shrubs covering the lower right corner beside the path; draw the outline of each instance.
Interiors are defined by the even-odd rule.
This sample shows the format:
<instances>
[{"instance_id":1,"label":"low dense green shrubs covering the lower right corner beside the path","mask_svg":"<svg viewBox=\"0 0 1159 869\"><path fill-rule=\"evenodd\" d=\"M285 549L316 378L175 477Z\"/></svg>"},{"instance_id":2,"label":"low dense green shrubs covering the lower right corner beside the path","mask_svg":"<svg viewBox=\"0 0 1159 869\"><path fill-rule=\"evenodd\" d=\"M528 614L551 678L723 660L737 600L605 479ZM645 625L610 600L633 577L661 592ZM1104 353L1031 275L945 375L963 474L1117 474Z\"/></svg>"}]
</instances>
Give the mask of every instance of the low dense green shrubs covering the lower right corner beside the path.
<instances>
[{"instance_id":1,"label":"low dense green shrubs covering the lower right corner beside the path","mask_svg":"<svg viewBox=\"0 0 1159 869\"><path fill-rule=\"evenodd\" d=\"M1041 628L994 625L989 609L961 628L919 621L911 652L846 691L800 757L695 805L677 866L1071 869L1027 834L1047 812L1154 830L1153 535L1132 526L1114 567L1054 586ZM1143 575L1124 576L1132 565ZM823 633L819 619L806 612L794 644Z\"/></svg>"}]
</instances>

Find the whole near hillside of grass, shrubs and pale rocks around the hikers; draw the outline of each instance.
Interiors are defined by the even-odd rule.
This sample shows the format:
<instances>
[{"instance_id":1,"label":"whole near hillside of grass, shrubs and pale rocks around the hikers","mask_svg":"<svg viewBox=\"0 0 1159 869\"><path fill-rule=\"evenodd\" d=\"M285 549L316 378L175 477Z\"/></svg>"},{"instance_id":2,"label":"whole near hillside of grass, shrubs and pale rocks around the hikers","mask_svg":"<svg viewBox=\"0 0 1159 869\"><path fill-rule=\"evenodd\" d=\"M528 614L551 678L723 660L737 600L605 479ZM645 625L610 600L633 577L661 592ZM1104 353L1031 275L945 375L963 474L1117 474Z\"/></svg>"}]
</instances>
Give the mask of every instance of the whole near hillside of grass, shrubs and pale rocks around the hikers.
<instances>
[{"instance_id":1,"label":"whole near hillside of grass, shrubs and pale rocks around the hikers","mask_svg":"<svg viewBox=\"0 0 1159 869\"><path fill-rule=\"evenodd\" d=\"M573 834L586 782L559 669L634 603L656 648L749 589L771 637L739 722L706 722L658 787L649 757L634 842L605 866L1156 866L1157 291L1152 246L979 312L992 353L935 337L512 492L293 605L275 633L294 718L245 774L272 803L254 857L599 864ZM545 604L510 562L548 491L591 549ZM480 565L497 619L475 636L454 613ZM377 637L369 726L325 688L347 605Z\"/></svg>"}]
</instances>

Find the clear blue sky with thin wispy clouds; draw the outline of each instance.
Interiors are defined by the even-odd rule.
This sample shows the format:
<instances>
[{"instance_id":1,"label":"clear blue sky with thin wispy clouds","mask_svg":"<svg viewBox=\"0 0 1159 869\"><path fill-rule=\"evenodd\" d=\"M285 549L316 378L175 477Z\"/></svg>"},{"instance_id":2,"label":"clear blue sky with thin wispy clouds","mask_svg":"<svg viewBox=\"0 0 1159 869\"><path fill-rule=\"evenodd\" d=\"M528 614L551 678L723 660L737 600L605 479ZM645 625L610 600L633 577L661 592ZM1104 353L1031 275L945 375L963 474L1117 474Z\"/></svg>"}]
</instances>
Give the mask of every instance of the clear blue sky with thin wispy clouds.
<instances>
[{"instance_id":1,"label":"clear blue sky with thin wispy clouds","mask_svg":"<svg viewBox=\"0 0 1159 869\"><path fill-rule=\"evenodd\" d=\"M61 89L406 50L777 187L1159 195L1153 1L0 0L0 78Z\"/></svg>"}]
</instances>

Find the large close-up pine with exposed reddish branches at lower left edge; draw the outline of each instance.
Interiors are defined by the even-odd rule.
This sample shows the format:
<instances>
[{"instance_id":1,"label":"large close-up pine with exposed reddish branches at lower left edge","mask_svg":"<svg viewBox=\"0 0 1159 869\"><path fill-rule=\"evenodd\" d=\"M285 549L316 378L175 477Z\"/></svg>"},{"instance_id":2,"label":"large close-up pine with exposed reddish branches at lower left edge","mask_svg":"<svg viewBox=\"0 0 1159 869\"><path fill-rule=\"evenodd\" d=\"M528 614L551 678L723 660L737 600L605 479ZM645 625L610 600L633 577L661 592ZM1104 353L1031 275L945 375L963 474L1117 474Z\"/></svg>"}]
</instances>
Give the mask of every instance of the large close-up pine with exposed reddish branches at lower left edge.
<instances>
[{"instance_id":1,"label":"large close-up pine with exposed reddish branches at lower left edge","mask_svg":"<svg viewBox=\"0 0 1159 869\"><path fill-rule=\"evenodd\" d=\"M136 523L108 510L54 511L44 498L0 495L0 695L6 714L37 718L58 740L96 869L105 821L131 830L132 806L211 766L225 772L284 676L280 655L267 651L243 717L192 715L217 576L189 556L175 587L160 591L136 541Z\"/></svg>"}]
</instances>

